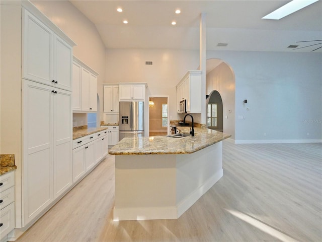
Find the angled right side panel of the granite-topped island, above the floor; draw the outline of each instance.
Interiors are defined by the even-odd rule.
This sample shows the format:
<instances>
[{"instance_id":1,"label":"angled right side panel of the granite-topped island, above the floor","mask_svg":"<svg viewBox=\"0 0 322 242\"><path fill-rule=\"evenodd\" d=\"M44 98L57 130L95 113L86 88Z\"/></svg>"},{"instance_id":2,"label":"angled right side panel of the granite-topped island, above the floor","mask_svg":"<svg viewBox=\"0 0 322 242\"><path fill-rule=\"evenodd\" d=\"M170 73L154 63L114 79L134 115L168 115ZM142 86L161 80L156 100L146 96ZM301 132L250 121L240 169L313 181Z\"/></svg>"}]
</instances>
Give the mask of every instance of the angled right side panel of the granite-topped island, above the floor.
<instances>
[{"instance_id":1,"label":"angled right side panel of the granite-topped island, above the floor","mask_svg":"<svg viewBox=\"0 0 322 242\"><path fill-rule=\"evenodd\" d=\"M176 167L180 217L222 177L222 141L192 154L177 155Z\"/></svg>"}]
</instances>

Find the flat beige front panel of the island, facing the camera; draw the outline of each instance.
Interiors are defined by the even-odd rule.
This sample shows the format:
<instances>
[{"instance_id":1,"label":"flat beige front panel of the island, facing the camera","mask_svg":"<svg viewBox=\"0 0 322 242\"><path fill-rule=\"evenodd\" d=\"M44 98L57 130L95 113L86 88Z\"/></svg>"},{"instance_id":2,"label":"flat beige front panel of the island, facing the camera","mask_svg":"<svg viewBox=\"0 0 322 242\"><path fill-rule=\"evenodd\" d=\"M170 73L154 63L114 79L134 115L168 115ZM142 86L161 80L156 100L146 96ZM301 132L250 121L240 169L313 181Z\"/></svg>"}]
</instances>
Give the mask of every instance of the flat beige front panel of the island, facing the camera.
<instances>
[{"instance_id":1,"label":"flat beige front panel of the island, facing the camera","mask_svg":"<svg viewBox=\"0 0 322 242\"><path fill-rule=\"evenodd\" d=\"M113 217L177 218L176 155L116 155Z\"/></svg>"}]
</instances>

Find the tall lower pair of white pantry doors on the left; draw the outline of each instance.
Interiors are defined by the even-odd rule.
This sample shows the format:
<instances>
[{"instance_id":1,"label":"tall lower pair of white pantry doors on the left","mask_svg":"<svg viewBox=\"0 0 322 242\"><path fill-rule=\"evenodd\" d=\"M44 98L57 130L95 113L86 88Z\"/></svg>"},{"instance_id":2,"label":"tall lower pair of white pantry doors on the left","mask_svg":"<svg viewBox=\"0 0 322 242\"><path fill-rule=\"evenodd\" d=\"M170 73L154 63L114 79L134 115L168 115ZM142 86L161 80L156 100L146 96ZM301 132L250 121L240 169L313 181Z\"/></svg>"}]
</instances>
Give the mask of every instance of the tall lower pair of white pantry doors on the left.
<instances>
[{"instance_id":1,"label":"tall lower pair of white pantry doors on the left","mask_svg":"<svg viewBox=\"0 0 322 242\"><path fill-rule=\"evenodd\" d=\"M24 207L29 223L72 184L71 92L24 82Z\"/></svg>"}]
</instances>

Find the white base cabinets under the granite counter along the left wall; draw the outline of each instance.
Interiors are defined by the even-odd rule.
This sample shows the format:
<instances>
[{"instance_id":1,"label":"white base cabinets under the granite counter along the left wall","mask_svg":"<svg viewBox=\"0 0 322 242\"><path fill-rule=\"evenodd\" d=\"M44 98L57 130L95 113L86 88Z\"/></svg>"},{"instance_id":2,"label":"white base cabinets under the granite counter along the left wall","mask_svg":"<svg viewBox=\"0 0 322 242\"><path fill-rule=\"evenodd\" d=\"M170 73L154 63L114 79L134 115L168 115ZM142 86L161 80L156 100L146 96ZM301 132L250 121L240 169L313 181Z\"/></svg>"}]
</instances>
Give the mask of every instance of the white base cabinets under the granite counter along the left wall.
<instances>
[{"instance_id":1,"label":"white base cabinets under the granite counter along the left wall","mask_svg":"<svg viewBox=\"0 0 322 242\"><path fill-rule=\"evenodd\" d=\"M73 183L83 178L108 153L107 131L73 141Z\"/></svg>"}]
</instances>

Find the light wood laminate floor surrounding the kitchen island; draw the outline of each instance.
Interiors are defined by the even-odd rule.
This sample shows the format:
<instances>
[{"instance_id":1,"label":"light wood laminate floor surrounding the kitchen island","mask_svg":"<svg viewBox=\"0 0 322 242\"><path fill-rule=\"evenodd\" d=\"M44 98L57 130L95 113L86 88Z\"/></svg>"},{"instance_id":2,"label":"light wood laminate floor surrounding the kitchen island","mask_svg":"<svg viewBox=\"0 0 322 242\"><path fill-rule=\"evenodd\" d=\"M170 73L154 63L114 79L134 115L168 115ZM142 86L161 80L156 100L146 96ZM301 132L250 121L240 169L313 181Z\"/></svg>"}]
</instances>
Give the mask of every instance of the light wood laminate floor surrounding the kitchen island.
<instances>
[{"instance_id":1,"label":"light wood laminate floor surrounding the kitchen island","mask_svg":"<svg viewBox=\"0 0 322 242\"><path fill-rule=\"evenodd\" d=\"M114 156L17 241L322 241L322 145L223 142L223 177L179 219L114 222Z\"/></svg>"}]
</instances>

